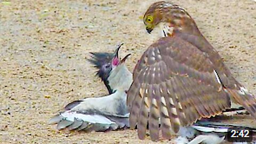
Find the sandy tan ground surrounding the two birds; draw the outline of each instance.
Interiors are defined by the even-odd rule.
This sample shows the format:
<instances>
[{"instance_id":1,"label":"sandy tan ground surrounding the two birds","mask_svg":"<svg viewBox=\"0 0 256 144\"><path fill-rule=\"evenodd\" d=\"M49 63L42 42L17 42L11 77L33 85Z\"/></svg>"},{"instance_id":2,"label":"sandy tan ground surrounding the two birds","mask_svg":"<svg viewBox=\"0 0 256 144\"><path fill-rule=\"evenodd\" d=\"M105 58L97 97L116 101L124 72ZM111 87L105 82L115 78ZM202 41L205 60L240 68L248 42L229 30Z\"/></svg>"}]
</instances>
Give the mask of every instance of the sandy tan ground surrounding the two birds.
<instances>
[{"instance_id":1,"label":"sandy tan ground surrounding the two birds","mask_svg":"<svg viewBox=\"0 0 256 144\"><path fill-rule=\"evenodd\" d=\"M132 70L155 41L140 19L153 2L0 0L0 143L153 143L131 130L78 133L47 124L67 103L107 93L86 61L89 52L112 52L123 42ZM256 94L256 2L174 2Z\"/></svg>"}]
</instances>

